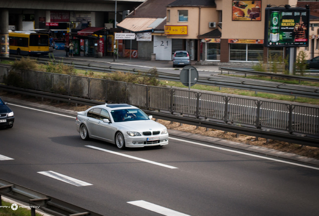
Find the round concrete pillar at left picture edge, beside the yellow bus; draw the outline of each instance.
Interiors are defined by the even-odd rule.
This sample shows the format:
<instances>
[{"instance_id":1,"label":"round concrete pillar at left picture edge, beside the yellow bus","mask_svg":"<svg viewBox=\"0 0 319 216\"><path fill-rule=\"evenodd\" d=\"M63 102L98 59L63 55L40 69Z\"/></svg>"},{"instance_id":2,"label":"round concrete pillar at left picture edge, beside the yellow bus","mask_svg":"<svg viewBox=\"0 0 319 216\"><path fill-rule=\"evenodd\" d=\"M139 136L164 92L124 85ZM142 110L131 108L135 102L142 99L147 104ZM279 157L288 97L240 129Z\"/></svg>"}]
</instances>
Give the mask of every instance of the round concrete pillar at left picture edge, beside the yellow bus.
<instances>
[{"instance_id":1,"label":"round concrete pillar at left picture edge, beside the yellow bus","mask_svg":"<svg viewBox=\"0 0 319 216\"><path fill-rule=\"evenodd\" d=\"M9 57L9 10L0 9L0 55Z\"/></svg>"}]
</instances>

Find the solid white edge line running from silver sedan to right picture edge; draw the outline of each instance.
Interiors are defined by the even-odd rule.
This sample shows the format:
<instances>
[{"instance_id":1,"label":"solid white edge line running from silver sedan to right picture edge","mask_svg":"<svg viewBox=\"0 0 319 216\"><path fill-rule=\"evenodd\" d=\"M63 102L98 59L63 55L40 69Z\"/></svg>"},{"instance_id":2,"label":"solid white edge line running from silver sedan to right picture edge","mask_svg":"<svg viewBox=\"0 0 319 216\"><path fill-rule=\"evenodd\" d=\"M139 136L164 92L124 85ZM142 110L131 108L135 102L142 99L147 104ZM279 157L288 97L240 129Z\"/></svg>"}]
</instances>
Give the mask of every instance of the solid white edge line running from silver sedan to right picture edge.
<instances>
[{"instance_id":1,"label":"solid white edge line running from silver sedan to right picture edge","mask_svg":"<svg viewBox=\"0 0 319 216\"><path fill-rule=\"evenodd\" d=\"M238 150L232 150L232 149L227 149L227 148L223 148L223 147L217 147L217 146L203 144L203 143L199 143L199 142L188 141L188 140L180 139L180 138L170 137L170 139L175 139L175 140L178 140L178 141L189 142L189 143L192 143L192 144L202 145L202 146L205 146L205 147L216 148L216 149L230 151L230 152L234 152L234 153L245 154L245 155L249 155L249 156L253 156L253 157L259 157L259 158L262 158L262 159L273 160L273 161L277 161L277 162L283 162L283 163L288 163L288 164L292 164L292 165L297 165L297 166L302 166L302 167L306 167L306 168L312 168L312 169L319 170L318 167L314 167L314 166L303 165L303 164L299 164L299 163L295 163L295 162L289 162L289 161L280 160L280 159L274 159L274 158L271 158L271 157L260 156L260 155L256 155L256 154L252 154L252 153L246 153L246 152L242 152L242 151L238 151Z\"/></svg>"}]
</instances>

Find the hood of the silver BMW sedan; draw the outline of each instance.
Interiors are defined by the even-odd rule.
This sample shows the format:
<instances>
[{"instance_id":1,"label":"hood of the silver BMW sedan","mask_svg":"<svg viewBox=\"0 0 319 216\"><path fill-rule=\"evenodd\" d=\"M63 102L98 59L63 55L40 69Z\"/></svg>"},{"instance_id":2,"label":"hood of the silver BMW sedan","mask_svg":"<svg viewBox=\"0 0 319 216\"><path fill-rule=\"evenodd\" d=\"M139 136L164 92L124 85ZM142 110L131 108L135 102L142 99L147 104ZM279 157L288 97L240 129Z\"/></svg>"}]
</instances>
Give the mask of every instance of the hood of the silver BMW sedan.
<instances>
[{"instance_id":1,"label":"hood of the silver BMW sedan","mask_svg":"<svg viewBox=\"0 0 319 216\"><path fill-rule=\"evenodd\" d=\"M166 129L166 126L153 120L133 120L116 123L119 127L126 131L156 131Z\"/></svg>"}]
</instances>

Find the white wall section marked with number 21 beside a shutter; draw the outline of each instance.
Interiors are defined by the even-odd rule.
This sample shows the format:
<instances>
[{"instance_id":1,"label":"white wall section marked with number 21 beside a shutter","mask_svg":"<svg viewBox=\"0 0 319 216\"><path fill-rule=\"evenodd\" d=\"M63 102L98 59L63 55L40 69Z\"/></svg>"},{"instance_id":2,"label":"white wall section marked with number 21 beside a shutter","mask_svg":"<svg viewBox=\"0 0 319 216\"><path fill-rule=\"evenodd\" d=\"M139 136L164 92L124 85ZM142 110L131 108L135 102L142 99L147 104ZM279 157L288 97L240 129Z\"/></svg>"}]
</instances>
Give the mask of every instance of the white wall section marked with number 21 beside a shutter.
<instances>
[{"instance_id":1,"label":"white wall section marked with number 21 beside a shutter","mask_svg":"<svg viewBox=\"0 0 319 216\"><path fill-rule=\"evenodd\" d=\"M156 60L172 60L172 39L154 35L153 53L156 54Z\"/></svg>"}]
</instances>

